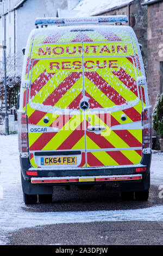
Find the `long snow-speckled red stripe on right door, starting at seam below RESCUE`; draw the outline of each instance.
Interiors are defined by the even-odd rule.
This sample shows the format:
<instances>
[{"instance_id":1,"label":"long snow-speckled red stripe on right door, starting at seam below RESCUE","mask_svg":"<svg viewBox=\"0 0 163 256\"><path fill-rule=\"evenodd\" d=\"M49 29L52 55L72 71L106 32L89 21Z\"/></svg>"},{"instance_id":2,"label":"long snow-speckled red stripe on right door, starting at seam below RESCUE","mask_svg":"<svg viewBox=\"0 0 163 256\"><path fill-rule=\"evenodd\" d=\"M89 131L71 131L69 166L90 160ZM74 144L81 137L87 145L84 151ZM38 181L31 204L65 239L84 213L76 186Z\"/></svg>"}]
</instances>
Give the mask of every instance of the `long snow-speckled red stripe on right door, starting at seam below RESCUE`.
<instances>
[{"instance_id":1,"label":"long snow-speckled red stripe on right door, starting at seam below RESCUE","mask_svg":"<svg viewBox=\"0 0 163 256\"><path fill-rule=\"evenodd\" d=\"M110 86L110 84L99 76L97 72L84 72L84 75L116 105L127 103L127 101L120 94L118 94L117 91Z\"/></svg>"}]
</instances>

